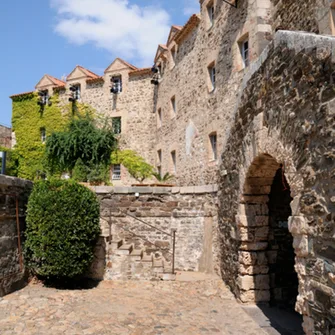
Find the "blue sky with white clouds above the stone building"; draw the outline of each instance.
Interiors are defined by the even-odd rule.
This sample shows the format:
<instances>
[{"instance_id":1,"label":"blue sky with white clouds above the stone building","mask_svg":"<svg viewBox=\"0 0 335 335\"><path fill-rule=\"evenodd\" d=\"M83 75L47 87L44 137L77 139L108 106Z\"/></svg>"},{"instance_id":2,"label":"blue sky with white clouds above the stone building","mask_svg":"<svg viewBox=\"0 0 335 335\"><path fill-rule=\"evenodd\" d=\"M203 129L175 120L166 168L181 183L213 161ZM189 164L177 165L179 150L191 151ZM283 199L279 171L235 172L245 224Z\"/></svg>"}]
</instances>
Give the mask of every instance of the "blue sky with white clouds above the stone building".
<instances>
[{"instance_id":1,"label":"blue sky with white clouds above the stone building","mask_svg":"<svg viewBox=\"0 0 335 335\"><path fill-rule=\"evenodd\" d=\"M0 123L11 124L11 99L48 73L76 65L102 74L115 57L151 66L171 24L199 11L198 0L11 0L0 4Z\"/></svg>"}]
</instances>

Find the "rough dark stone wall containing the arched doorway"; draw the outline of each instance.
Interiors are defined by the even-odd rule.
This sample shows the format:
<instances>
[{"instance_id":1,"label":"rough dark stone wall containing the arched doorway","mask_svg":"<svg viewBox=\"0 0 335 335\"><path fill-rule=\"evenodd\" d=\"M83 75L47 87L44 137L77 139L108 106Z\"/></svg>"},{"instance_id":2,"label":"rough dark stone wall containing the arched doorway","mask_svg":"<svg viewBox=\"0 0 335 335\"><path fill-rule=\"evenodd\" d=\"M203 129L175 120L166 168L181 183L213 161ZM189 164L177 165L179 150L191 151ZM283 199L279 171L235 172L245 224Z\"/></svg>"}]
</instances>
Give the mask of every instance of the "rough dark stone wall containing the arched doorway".
<instances>
[{"instance_id":1,"label":"rough dark stone wall containing the arched doorway","mask_svg":"<svg viewBox=\"0 0 335 335\"><path fill-rule=\"evenodd\" d=\"M242 301L271 299L268 202L283 169L307 334L335 325L334 71L333 38L277 33L244 79L220 168L221 272Z\"/></svg>"}]
</instances>

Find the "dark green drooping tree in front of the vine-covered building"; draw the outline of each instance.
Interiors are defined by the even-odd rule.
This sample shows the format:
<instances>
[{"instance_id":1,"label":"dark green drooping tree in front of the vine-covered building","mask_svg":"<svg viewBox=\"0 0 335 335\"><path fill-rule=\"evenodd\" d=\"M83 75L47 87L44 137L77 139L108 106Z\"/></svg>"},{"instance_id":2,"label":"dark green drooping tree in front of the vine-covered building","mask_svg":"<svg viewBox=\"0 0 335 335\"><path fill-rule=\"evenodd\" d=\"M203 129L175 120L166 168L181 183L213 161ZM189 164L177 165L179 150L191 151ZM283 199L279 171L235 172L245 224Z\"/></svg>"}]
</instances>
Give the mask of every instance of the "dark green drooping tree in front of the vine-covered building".
<instances>
[{"instance_id":1,"label":"dark green drooping tree in front of the vine-covered building","mask_svg":"<svg viewBox=\"0 0 335 335\"><path fill-rule=\"evenodd\" d=\"M65 131L53 133L47 139L46 155L51 169L63 171L72 171L80 159L83 175L82 165L90 170L109 166L115 146L114 134L108 126L98 128L93 118L86 116L72 119Z\"/></svg>"}]
</instances>

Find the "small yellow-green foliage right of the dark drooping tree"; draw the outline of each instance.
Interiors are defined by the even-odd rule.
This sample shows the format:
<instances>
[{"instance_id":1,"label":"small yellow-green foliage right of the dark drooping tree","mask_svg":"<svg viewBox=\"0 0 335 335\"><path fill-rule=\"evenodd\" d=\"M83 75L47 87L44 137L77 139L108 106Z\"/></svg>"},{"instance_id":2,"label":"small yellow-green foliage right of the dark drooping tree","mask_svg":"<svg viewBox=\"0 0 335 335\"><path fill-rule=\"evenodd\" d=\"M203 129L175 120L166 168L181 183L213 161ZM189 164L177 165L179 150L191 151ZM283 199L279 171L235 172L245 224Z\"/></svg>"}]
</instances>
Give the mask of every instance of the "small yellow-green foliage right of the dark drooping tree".
<instances>
[{"instance_id":1,"label":"small yellow-green foliage right of the dark drooping tree","mask_svg":"<svg viewBox=\"0 0 335 335\"><path fill-rule=\"evenodd\" d=\"M139 182L151 177L154 172L154 168L133 150L113 152L112 163L122 164L129 174Z\"/></svg>"}]
</instances>

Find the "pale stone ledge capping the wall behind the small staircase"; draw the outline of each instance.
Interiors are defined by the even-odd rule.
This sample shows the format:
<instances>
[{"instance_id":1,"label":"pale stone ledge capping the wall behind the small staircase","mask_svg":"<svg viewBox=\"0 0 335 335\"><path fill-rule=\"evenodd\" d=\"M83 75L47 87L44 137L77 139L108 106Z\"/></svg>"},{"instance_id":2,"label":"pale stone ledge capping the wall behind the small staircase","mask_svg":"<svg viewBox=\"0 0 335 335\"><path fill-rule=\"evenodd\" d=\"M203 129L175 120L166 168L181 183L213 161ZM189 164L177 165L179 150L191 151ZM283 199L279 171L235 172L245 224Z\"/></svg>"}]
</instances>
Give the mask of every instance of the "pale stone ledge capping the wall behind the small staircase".
<instances>
[{"instance_id":1,"label":"pale stone ledge capping the wall behind the small staircase","mask_svg":"<svg viewBox=\"0 0 335 335\"><path fill-rule=\"evenodd\" d=\"M97 194L208 194L216 193L218 185L182 186L182 187L150 187L150 186L92 186Z\"/></svg>"}]
</instances>

